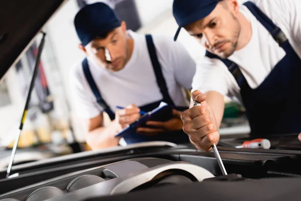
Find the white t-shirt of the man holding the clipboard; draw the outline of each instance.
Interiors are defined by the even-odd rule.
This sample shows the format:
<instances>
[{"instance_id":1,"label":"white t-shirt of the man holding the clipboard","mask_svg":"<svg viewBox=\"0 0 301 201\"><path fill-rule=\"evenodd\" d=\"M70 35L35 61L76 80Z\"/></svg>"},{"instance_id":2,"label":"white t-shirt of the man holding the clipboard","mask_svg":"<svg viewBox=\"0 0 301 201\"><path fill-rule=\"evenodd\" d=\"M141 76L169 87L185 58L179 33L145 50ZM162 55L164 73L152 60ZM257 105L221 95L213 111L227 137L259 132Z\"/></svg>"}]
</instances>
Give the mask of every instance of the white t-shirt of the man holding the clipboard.
<instances>
[{"instance_id":1,"label":"white t-shirt of the man holding the clipboard","mask_svg":"<svg viewBox=\"0 0 301 201\"><path fill-rule=\"evenodd\" d=\"M92 77L102 98L113 112L116 111L116 106L135 104L140 107L163 99L148 54L145 35L130 30L127 34L133 38L134 47L129 61L120 71L110 72L88 58ZM173 38L153 35L153 41L173 102L176 106L188 106L183 88L192 88L196 63L185 47L179 42L174 42ZM74 66L70 73L71 94L77 115L86 119L96 117L103 109L96 102L84 76L81 62Z\"/></svg>"}]
</instances>

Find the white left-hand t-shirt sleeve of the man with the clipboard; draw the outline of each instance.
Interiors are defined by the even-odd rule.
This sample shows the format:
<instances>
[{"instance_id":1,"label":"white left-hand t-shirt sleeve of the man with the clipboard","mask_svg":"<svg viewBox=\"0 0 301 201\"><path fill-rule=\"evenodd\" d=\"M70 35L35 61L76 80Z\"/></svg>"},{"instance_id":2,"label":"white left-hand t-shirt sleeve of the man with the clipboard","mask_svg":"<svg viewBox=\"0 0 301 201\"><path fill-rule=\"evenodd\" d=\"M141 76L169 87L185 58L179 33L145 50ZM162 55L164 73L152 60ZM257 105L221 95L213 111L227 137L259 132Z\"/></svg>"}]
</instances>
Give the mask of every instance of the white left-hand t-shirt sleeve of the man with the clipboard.
<instances>
[{"instance_id":1,"label":"white left-hand t-shirt sleeve of the man with the clipboard","mask_svg":"<svg viewBox=\"0 0 301 201\"><path fill-rule=\"evenodd\" d=\"M69 83L72 102L78 117L91 119L102 112L102 108L97 105L89 85L79 72L70 72Z\"/></svg>"}]
</instances>

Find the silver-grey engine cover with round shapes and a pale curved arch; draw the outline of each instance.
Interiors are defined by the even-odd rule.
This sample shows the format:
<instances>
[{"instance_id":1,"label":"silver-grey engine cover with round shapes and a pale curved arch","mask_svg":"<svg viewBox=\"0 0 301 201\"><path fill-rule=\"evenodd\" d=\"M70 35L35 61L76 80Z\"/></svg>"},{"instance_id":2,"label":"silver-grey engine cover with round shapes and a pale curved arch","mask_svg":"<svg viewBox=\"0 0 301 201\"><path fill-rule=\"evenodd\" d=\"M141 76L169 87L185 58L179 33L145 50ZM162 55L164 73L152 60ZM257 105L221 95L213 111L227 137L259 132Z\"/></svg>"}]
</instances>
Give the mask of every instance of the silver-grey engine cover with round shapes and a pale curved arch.
<instances>
[{"instance_id":1,"label":"silver-grey engine cover with round shapes and a pale curved arch","mask_svg":"<svg viewBox=\"0 0 301 201\"><path fill-rule=\"evenodd\" d=\"M143 162L150 164L151 167L144 165ZM160 158L137 158L48 179L5 193L0 198L37 201L61 197L62 200L76 200L75 196L80 194L84 198L91 189L97 189L95 195L104 196L136 191L147 185L158 187L185 184L212 177L214 175L211 172L191 163Z\"/></svg>"}]
</instances>

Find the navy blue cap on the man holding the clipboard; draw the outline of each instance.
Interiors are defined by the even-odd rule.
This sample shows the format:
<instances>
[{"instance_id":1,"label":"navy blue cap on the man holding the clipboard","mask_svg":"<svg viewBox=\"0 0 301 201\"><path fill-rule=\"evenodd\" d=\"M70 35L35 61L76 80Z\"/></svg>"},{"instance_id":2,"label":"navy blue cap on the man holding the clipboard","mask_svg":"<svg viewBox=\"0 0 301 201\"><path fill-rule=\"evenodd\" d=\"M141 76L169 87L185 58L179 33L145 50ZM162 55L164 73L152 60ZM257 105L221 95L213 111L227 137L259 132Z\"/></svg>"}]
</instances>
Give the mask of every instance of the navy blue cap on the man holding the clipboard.
<instances>
[{"instance_id":1,"label":"navy blue cap on the man holding the clipboard","mask_svg":"<svg viewBox=\"0 0 301 201\"><path fill-rule=\"evenodd\" d=\"M97 36L121 26L121 21L108 5L98 2L82 8L74 18L79 40L86 46Z\"/></svg>"}]
</instances>

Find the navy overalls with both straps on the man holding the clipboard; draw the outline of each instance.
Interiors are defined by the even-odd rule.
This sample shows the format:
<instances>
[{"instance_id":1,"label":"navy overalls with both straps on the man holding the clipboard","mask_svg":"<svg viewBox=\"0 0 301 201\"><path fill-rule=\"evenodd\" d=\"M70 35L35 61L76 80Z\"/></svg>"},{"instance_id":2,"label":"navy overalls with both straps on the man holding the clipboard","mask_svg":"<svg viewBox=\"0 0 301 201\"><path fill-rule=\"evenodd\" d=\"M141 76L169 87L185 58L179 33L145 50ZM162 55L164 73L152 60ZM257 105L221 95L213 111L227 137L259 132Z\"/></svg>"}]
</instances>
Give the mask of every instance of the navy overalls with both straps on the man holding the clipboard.
<instances>
[{"instance_id":1,"label":"navy overalls with both straps on the man holding the clipboard","mask_svg":"<svg viewBox=\"0 0 301 201\"><path fill-rule=\"evenodd\" d=\"M154 109L156 109L161 102L165 102L171 106L175 106L172 98L169 95L168 88L166 85L165 78L162 73L161 65L159 63L157 54L156 54L156 48L153 42L153 38L151 35L146 35L146 44L148 48L148 53L150 60L152 61L152 65L154 68L154 72L156 75L157 79L157 84L160 88L161 94L163 96L162 100L159 100L158 102L155 103L150 103L145 106L140 106L141 111L145 112L150 112ZM93 77L91 75L89 65L87 58L85 58L82 62L82 67L84 70L85 77L90 85L90 88L92 92L94 93L97 103L103 108L103 110L108 114L111 120L115 119L115 114L112 112L110 107L107 105L105 100L102 98L101 93L99 92L96 83L93 80ZM170 133L162 133L156 136L144 136L138 133L133 133L130 135L125 135L123 136L126 144L132 144L132 143L138 143L138 142L147 142L147 141L168 141L168 142L173 142L173 143L189 143L189 138L186 133L184 133L183 130L180 131L175 131L175 132L170 132Z\"/></svg>"}]
</instances>

